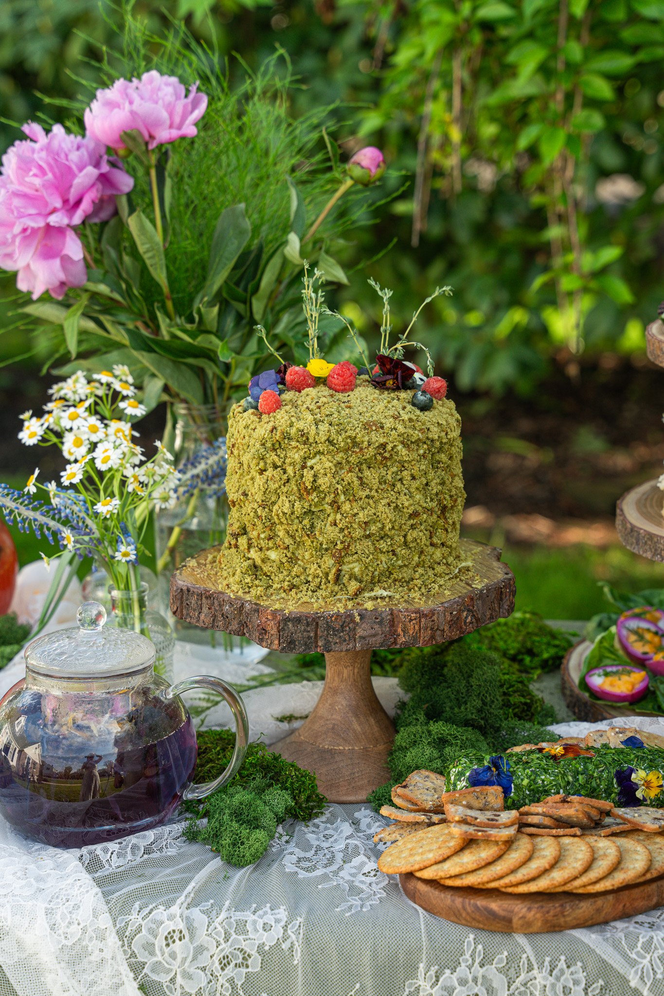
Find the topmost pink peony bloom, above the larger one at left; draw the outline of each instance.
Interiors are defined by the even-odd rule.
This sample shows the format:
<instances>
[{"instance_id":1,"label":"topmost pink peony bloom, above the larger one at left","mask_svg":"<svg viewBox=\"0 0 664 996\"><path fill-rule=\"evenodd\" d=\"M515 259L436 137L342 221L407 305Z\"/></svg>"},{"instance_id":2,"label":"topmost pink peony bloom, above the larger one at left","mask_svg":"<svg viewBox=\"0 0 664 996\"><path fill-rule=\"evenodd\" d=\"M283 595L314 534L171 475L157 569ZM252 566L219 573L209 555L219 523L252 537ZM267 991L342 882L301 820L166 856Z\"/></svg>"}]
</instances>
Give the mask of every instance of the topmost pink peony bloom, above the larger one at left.
<instances>
[{"instance_id":1,"label":"topmost pink peony bloom, above the larger one at left","mask_svg":"<svg viewBox=\"0 0 664 996\"><path fill-rule=\"evenodd\" d=\"M162 76L156 70L131 83L117 80L109 90L97 91L85 114L86 130L114 149L126 147L122 131L139 131L150 149L176 138L191 138L207 108L207 97L197 94L197 87L195 83L187 94L177 77Z\"/></svg>"}]
</instances>

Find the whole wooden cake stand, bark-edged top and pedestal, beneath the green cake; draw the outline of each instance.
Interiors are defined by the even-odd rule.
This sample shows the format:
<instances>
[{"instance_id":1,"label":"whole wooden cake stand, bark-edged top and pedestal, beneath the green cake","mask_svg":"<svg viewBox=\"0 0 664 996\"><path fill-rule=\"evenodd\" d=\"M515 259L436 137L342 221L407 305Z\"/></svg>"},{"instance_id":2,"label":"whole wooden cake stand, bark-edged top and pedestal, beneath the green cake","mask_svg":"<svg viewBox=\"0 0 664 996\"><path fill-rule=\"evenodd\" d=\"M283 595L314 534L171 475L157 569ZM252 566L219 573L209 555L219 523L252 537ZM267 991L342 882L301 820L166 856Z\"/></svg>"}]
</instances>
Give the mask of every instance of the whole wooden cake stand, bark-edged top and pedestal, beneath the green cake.
<instances>
[{"instance_id":1,"label":"whole wooden cake stand, bark-edged top and pedestal, beneath the green cake","mask_svg":"<svg viewBox=\"0 0 664 996\"><path fill-rule=\"evenodd\" d=\"M386 759L394 726L371 684L374 647L430 646L457 639L514 611L514 575L501 551L461 541L472 562L470 580L449 581L429 605L376 610L310 612L270 609L219 591L219 547L185 561L170 582L170 608L184 622L248 636L284 653L326 655L326 682L314 711L300 729L273 749L316 772L331 802L363 802L389 778Z\"/></svg>"}]
</instances>

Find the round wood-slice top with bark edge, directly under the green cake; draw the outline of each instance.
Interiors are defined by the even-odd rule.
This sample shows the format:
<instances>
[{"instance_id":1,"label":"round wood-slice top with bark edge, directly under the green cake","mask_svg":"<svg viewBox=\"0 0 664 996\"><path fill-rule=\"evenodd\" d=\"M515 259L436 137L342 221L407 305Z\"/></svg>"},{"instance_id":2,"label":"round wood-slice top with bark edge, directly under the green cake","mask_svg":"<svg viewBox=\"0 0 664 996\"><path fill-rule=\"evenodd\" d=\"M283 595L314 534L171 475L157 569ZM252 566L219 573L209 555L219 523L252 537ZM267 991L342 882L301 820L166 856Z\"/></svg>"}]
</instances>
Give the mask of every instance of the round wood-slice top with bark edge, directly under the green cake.
<instances>
[{"instance_id":1,"label":"round wood-slice top with bark edge, directly under the green cake","mask_svg":"<svg viewBox=\"0 0 664 996\"><path fill-rule=\"evenodd\" d=\"M462 540L462 555L473 558L483 583L473 588L452 580L458 594L438 605L342 612L300 612L267 606L205 584L206 567L220 548L185 561L170 581L170 609L184 622L247 636L282 653L431 646L457 639L514 612L515 580L496 547ZM209 573L207 575L209 580Z\"/></svg>"}]
</instances>

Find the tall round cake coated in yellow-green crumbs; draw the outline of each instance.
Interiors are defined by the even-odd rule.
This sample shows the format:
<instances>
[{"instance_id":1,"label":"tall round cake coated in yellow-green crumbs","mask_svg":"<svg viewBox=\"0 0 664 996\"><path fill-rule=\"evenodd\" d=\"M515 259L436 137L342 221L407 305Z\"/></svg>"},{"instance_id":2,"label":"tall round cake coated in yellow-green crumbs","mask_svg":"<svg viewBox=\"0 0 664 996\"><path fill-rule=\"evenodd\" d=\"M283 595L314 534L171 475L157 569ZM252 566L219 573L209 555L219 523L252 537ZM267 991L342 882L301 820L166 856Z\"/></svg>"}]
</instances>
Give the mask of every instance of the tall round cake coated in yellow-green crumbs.
<instances>
[{"instance_id":1,"label":"tall round cake coated in yellow-green crumbs","mask_svg":"<svg viewBox=\"0 0 664 996\"><path fill-rule=\"evenodd\" d=\"M219 587L274 608L430 602L460 567L465 492L454 403L428 411L365 376L229 416Z\"/></svg>"}]
</instances>

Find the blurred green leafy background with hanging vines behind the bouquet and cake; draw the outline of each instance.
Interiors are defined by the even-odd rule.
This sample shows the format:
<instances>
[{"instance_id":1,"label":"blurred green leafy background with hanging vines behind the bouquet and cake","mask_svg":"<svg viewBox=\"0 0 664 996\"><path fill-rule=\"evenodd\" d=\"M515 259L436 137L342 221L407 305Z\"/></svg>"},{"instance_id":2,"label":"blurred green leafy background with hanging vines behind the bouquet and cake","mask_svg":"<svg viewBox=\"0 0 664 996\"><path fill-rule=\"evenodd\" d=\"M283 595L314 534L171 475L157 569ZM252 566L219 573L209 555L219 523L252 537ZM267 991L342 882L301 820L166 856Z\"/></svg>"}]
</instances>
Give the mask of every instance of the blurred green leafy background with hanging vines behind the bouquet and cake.
<instances>
[{"instance_id":1,"label":"blurred green leafy background with hanging vines behind the bouquet and cake","mask_svg":"<svg viewBox=\"0 0 664 996\"><path fill-rule=\"evenodd\" d=\"M254 69L282 46L300 78L293 115L342 101L336 137L385 150L383 186L407 186L348 256L396 243L335 302L365 337L370 274L394 289L397 328L453 285L418 336L460 389L528 392L554 354L643 348L664 297L664 2L138 0L134 12L155 31L185 19ZM0 115L35 116L37 94L80 99L119 16L104 0L2 5ZM3 146L15 137L3 124Z\"/></svg>"}]
</instances>

